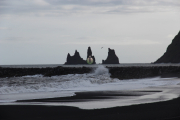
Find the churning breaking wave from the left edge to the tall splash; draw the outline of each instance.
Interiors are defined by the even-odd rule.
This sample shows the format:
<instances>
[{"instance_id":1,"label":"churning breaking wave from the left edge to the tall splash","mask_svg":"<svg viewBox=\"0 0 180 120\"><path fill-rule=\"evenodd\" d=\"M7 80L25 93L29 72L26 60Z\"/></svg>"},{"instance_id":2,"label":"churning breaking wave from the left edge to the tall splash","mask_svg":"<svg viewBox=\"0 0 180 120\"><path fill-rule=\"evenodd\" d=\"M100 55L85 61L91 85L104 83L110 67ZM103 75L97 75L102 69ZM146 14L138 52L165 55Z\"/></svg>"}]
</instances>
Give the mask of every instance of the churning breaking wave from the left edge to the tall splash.
<instances>
[{"instance_id":1,"label":"churning breaking wave from the left edge to the tall splash","mask_svg":"<svg viewBox=\"0 0 180 120\"><path fill-rule=\"evenodd\" d=\"M68 74L43 77L42 75L0 79L0 94L47 92L61 90L88 89L101 84L119 81L110 78L109 70L98 66L92 73Z\"/></svg>"}]
</instances>

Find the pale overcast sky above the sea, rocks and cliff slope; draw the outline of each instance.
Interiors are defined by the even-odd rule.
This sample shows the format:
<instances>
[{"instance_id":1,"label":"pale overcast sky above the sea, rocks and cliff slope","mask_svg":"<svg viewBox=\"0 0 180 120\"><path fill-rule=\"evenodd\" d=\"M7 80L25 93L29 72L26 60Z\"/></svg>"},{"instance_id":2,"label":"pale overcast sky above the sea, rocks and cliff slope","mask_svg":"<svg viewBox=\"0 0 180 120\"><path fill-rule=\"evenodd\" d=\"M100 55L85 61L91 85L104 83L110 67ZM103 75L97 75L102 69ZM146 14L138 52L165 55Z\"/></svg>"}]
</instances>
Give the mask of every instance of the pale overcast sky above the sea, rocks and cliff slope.
<instances>
[{"instance_id":1,"label":"pale overcast sky above the sea, rocks and cliff slope","mask_svg":"<svg viewBox=\"0 0 180 120\"><path fill-rule=\"evenodd\" d=\"M97 63L108 48L150 63L179 30L180 0L0 0L0 65L64 64L88 46Z\"/></svg>"}]
</instances>

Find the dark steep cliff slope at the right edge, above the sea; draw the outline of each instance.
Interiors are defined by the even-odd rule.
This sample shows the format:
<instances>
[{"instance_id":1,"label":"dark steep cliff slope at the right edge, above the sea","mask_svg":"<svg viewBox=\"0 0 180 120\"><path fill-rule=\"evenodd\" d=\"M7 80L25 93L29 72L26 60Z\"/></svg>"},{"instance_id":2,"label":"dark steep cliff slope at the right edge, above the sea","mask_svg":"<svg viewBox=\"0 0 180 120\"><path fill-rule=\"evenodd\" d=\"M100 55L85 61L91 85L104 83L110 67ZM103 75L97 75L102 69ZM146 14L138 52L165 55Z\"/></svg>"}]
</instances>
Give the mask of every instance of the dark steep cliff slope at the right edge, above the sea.
<instances>
[{"instance_id":1,"label":"dark steep cliff slope at the right edge, above the sea","mask_svg":"<svg viewBox=\"0 0 180 120\"><path fill-rule=\"evenodd\" d=\"M180 31L172 40L164 55L154 63L180 63Z\"/></svg>"}]
</instances>

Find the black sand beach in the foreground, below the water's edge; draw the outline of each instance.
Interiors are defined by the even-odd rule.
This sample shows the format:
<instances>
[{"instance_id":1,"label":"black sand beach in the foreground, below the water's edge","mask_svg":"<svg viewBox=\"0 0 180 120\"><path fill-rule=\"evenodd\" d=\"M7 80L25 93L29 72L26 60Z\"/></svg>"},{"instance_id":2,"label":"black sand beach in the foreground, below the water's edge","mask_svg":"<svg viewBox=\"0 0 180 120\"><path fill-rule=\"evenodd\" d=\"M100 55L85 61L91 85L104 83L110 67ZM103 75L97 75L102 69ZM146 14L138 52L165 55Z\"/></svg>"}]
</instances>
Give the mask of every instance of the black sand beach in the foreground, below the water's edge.
<instances>
[{"instance_id":1,"label":"black sand beach in the foreground, below the water's edge","mask_svg":"<svg viewBox=\"0 0 180 120\"><path fill-rule=\"evenodd\" d=\"M98 94L97 92L96 95ZM83 94L83 96L89 95ZM58 98L54 99L58 100ZM69 100L72 99L69 98ZM67 98L64 100L68 101ZM75 100L78 101L77 97ZM44 101L47 102L48 99ZM36 102L36 100L31 102ZM180 98L164 102L90 110L70 106L1 105L0 118L1 120L180 120Z\"/></svg>"}]
</instances>

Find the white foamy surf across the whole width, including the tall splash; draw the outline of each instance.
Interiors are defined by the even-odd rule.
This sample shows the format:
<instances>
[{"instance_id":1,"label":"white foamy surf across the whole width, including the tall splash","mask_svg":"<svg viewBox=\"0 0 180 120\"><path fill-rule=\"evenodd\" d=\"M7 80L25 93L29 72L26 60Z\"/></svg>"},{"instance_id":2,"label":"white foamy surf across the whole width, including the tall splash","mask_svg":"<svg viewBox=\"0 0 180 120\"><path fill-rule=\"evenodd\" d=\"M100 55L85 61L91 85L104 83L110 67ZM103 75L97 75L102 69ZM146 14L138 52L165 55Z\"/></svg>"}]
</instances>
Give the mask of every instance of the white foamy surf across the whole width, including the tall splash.
<instances>
[{"instance_id":1,"label":"white foamy surf across the whole width, including the tall splash","mask_svg":"<svg viewBox=\"0 0 180 120\"><path fill-rule=\"evenodd\" d=\"M42 75L0 78L0 95L16 95L16 98L8 96L8 100L18 99L17 95L24 95L24 99L48 96L42 93L60 92L58 96L71 96L76 91L97 91L97 90L129 90L150 86L175 85L179 81L164 80L162 78L147 78L133 80L119 80L110 78L110 73L104 66L99 66L93 73L89 74L68 74L61 76L43 77ZM67 91L71 91L67 93ZM57 94L54 94L55 97ZM52 97L49 95L49 97ZM6 97L7 98L7 97ZM5 99L5 98L4 98ZM4 101L3 99L3 101ZM1 98L0 98L1 100Z\"/></svg>"}]
</instances>

